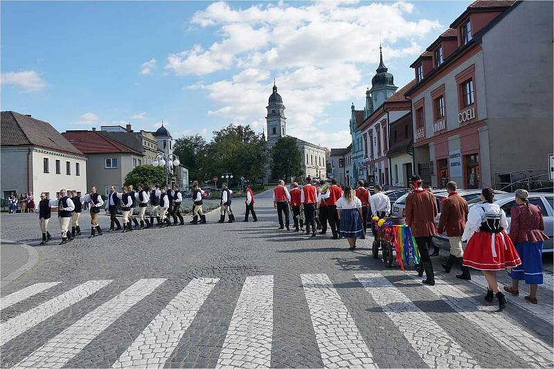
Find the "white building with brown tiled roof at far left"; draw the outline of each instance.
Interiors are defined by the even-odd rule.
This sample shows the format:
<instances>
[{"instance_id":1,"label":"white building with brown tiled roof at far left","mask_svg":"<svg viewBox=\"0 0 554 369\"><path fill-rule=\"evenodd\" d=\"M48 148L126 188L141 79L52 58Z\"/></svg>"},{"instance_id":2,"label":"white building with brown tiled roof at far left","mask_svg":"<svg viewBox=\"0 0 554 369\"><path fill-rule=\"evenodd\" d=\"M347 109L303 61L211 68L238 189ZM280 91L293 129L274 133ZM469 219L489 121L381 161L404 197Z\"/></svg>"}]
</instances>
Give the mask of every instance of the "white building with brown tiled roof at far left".
<instances>
[{"instance_id":1,"label":"white building with brown tiled roof at far left","mask_svg":"<svg viewBox=\"0 0 554 369\"><path fill-rule=\"evenodd\" d=\"M60 189L87 192L87 156L49 123L15 111L1 112L1 192L40 192L54 199Z\"/></svg>"}]
</instances>

